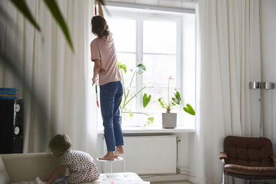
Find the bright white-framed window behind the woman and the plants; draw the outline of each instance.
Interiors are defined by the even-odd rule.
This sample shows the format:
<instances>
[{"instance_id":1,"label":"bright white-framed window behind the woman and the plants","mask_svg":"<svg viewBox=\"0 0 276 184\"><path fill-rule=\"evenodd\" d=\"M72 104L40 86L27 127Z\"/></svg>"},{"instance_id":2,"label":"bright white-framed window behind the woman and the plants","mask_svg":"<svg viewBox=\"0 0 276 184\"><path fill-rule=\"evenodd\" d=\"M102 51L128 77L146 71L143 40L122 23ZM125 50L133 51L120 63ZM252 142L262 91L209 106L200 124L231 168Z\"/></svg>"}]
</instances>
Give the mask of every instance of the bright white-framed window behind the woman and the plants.
<instances>
[{"instance_id":1,"label":"bright white-framed window behind the woman and the plants","mask_svg":"<svg viewBox=\"0 0 276 184\"><path fill-rule=\"evenodd\" d=\"M115 41L117 60L128 68L124 74L125 86L132 79L130 69L140 63L146 66L146 72L135 76L131 90L138 92L150 83L128 104L128 110L146 112L155 118L152 126L160 126L161 112L166 110L161 108L157 100L164 97L167 101L170 75L174 79L170 81L170 94L178 88L183 102L195 107L195 14L152 10L136 12L115 7L108 10L109 14L105 13L105 16ZM146 108L142 104L144 93L152 95ZM194 116L183 110L175 112L179 113L178 126L187 123L184 120L195 122ZM143 126L148 118L144 114L133 114L131 118L128 113L121 115L122 126Z\"/></svg>"}]
</instances>

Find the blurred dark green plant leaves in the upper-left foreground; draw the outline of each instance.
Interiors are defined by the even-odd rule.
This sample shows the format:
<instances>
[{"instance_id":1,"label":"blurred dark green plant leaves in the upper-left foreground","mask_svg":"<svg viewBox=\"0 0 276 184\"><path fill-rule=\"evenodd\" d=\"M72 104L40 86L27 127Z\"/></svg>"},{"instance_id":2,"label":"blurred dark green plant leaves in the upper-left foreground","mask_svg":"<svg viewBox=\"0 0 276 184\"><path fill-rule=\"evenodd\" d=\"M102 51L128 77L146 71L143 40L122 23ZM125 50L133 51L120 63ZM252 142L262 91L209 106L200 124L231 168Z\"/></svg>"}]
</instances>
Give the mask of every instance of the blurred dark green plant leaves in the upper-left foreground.
<instances>
[{"instance_id":1,"label":"blurred dark green plant leaves in the upper-left foreground","mask_svg":"<svg viewBox=\"0 0 276 184\"><path fill-rule=\"evenodd\" d=\"M66 41L67 41L68 45L70 46L71 50L74 51L73 43L72 43L72 40L70 37L70 33L68 31L68 26L66 24L66 21L64 21L63 17L61 16L61 12L59 10L59 7L57 6L56 1L55 0L43 0L43 2L46 4L46 8L48 8L48 10L50 10L52 17L57 21L57 24L61 28L63 35L66 38ZM23 16L26 17L26 19L28 21L30 21L30 23L34 26L34 28L36 30L41 32L41 28L40 28L39 24L37 23L37 21L32 16L32 13L30 12L30 9L28 8L26 1L10 0L10 3L12 3L17 8L17 10L19 10L23 14ZM0 6L0 17L3 19L6 19L6 25L9 25L10 28L12 28L12 26L14 26L14 25L17 26L17 23L12 19L12 17L10 17L8 12L6 12L6 10L3 9L1 6ZM8 41L10 39L10 37L8 37L8 35L6 35L6 39ZM17 50L15 50L14 52L17 52ZM41 125L45 126L46 123L42 123L42 122L44 122L46 119L48 119L48 115L45 113L46 105L44 105L42 103L41 99L39 99L39 94L37 94L37 92L32 90L32 86L28 82L26 75L24 75L21 72L21 70L19 70L19 67L17 64L18 61L19 61L19 59L14 59L14 58L10 57L9 52L6 52L6 50L3 50L0 47L0 63L3 63L4 65L6 65L6 67L9 68L9 70L12 72L12 74L14 74L14 76L19 81L21 81L24 88L30 93L30 96L32 96L33 103L37 105L37 110L39 111L39 114L40 114L39 122L41 122Z\"/></svg>"}]
</instances>

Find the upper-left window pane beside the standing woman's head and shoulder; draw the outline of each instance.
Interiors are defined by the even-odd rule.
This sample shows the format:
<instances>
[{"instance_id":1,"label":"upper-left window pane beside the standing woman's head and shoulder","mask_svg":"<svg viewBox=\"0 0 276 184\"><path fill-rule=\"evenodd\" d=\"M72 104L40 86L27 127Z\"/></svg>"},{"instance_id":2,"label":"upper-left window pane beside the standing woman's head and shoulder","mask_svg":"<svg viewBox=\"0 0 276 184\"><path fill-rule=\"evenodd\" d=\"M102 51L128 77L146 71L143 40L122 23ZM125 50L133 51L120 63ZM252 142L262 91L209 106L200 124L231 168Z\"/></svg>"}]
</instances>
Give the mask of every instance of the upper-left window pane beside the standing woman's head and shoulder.
<instances>
[{"instance_id":1,"label":"upper-left window pane beside the standing woman's head and shoulder","mask_svg":"<svg viewBox=\"0 0 276 184\"><path fill-rule=\"evenodd\" d=\"M107 18L117 52L136 52L136 20Z\"/></svg>"}]
</instances>

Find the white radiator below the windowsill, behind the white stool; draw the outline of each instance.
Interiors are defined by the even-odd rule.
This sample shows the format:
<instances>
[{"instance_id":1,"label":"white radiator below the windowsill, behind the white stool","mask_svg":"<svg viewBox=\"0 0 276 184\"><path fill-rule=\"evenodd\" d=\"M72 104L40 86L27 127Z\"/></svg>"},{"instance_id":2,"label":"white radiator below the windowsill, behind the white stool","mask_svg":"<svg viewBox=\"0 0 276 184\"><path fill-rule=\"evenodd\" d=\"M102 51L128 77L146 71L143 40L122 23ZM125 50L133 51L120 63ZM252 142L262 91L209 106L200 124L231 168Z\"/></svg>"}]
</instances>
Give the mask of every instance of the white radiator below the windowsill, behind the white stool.
<instances>
[{"instance_id":1,"label":"white radiator below the windowsill, behind the white stool","mask_svg":"<svg viewBox=\"0 0 276 184\"><path fill-rule=\"evenodd\" d=\"M104 152L106 143L104 142ZM124 136L126 172L137 174L176 174L177 136ZM108 171L103 164L103 172ZM113 163L113 172L124 172L122 161Z\"/></svg>"}]
</instances>

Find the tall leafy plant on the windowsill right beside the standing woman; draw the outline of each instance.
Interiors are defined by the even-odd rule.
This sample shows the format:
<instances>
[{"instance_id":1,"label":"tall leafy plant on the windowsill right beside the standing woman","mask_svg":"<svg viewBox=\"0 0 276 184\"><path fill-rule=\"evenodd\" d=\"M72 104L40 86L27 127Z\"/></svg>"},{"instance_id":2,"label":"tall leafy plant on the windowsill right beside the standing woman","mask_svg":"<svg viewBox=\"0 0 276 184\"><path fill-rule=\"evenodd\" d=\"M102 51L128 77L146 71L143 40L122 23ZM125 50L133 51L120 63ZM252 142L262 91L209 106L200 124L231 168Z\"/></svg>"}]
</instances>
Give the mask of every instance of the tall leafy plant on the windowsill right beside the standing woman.
<instances>
[{"instance_id":1,"label":"tall leafy plant on the windowsill right beside the standing woman","mask_svg":"<svg viewBox=\"0 0 276 184\"><path fill-rule=\"evenodd\" d=\"M142 74L146 71L146 66L139 64L136 66L135 69L130 70L130 72L132 72L132 78L129 84L126 84L124 81L124 74L126 74L127 72L127 68L126 65L120 63L119 61L117 61L117 67L119 68L120 72L121 72L121 81L123 83L123 87L124 87L124 95L123 95L123 99L121 100L121 105L120 105L120 112L121 113L128 113L130 115L130 117L133 116L133 114L145 114L146 116L148 116L148 121L146 122L145 125L150 125L150 123L153 123L154 118L150 117L146 112L132 112L131 110L128 110L126 108L126 105L128 105L128 103L130 103L130 101L132 101L132 99L134 99L135 97L137 97L137 94L139 94L140 92L142 92L145 88L146 85L144 85L143 88L141 88L138 92L132 92L131 90L131 85L134 79L135 74ZM143 95L143 108L146 108L146 106L148 105L148 103L150 103L150 99L151 99L151 95L144 93Z\"/></svg>"}]
</instances>

